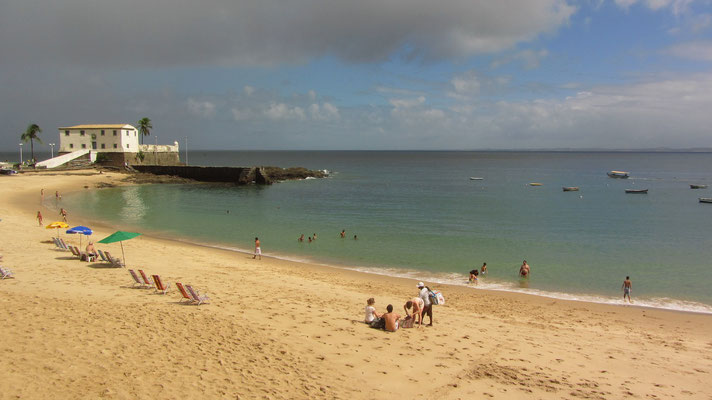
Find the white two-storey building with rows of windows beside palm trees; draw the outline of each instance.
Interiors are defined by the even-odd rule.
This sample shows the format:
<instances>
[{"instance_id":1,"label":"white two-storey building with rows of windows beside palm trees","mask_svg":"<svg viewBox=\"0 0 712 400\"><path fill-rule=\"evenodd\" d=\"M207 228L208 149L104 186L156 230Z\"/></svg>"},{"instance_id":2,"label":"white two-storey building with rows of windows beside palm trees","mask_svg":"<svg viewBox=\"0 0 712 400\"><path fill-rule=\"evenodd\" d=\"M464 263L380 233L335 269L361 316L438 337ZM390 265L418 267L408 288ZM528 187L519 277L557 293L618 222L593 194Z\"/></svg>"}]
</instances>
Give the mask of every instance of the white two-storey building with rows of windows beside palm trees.
<instances>
[{"instance_id":1,"label":"white two-storey building with rows of windows beside palm trees","mask_svg":"<svg viewBox=\"0 0 712 400\"><path fill-rule=\"evenodd\" d=\"M138 130L132 125L96 124L59 128L59 154L77 150L137 153Z\"/></svg>"}]
</instances>

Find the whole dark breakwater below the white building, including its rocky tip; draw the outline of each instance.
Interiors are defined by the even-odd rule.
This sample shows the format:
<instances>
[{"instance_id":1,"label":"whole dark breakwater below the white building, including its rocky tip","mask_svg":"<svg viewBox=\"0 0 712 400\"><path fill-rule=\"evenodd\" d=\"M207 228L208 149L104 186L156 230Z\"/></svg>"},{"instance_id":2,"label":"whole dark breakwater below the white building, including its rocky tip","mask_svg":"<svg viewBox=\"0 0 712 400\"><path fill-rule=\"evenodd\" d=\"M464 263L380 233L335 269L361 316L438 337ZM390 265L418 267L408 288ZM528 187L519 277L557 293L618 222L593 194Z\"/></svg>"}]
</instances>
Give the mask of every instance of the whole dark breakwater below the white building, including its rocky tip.
<instances>
[{"instance_id":1,"label":"whole dark breakwater below the white building, including its rocky tip","mask_svg":"<svg viewBox=\"0 0 712 400\"><path fill-rule=\"evenodd\" d=\"M256 183L270 185L284 180L324 178L325 171L301 167L200 167L190 165L134 165L142 173L170 175L200 182L223 182L237 185Z\"/></svg>"}]
</instances>

